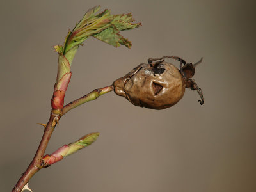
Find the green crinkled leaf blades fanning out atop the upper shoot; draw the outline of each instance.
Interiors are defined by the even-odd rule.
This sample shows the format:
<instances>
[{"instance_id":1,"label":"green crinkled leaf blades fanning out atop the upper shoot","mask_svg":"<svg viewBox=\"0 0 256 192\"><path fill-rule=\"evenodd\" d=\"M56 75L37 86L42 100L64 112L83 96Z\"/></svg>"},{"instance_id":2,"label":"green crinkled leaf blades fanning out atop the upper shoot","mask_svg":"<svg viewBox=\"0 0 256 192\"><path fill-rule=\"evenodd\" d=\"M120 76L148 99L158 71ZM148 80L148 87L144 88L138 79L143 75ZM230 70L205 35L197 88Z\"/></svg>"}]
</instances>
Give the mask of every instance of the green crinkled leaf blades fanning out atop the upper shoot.
<instances>
[{"instance_id":1,"label":"green crinkled leaf blades fanning out atop the upper shoot","mask_svg":"<svg viewBox=\"0 0 256 192\"><path fill-rule=\"evenodd\" d=\"M141 23L132 23L134 19L132 18L131 13L111 15L109 10L104 10L102 13L95 15L99 9L100 6L95 6L88 10L83 19L76 24L75 28L68 32L68 35L65 38L62 54L66 56L70 64L74 57L74 52L72 57L70 57L68 51L73 47L81 45L89 36L94 36L115 47L120 46L120 44L125 45L126 47L131 46L131 43L122 43L125 38L119 34L119 31L138 28L141 26Z\"/></svg>"}]
</instances>

